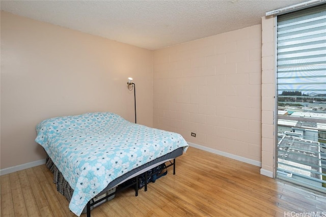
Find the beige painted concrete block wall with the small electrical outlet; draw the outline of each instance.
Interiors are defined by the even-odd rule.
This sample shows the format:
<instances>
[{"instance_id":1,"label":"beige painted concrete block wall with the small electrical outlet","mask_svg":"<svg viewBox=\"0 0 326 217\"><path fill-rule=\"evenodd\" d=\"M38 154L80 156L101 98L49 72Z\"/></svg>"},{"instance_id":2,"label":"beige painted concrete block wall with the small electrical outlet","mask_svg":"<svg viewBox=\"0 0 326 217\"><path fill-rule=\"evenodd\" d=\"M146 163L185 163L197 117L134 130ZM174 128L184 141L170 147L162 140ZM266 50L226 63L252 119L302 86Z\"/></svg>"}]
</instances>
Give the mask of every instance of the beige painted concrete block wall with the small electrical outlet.
<instances>
[{"instance_id":1,"label":"beige painted concrete block wall with the small electrical outlet","mask_svg":"<svg viewBox=\"0 0 326 217\"><path fill-rule=\"evenodd\" d=\"M261 25L156 50L153 70L154 127L261 162Z\"/></svg>"}]
</instances>

